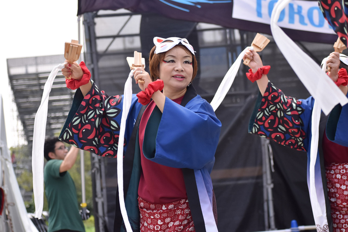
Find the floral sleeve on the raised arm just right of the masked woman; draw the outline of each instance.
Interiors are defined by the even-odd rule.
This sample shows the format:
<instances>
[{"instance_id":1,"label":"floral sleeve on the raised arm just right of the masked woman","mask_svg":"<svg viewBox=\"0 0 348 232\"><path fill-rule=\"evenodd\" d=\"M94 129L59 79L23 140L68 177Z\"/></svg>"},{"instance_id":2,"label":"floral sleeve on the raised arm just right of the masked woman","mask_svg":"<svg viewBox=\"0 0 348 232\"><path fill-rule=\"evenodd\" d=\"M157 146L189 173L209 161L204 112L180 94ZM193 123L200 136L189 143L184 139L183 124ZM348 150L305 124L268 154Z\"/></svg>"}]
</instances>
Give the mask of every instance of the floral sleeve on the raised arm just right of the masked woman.
<instances>
[{"instance_id":1,"label":"floral sleeve on the raised arm just right of the masked woman","mask_svg":"<svg viewBox=\"0 0 348 232\"><path fill-rule=\"evenodd\" d=\"M259 94L249 122L249 133L271 139L298 151L307 151L314 99L296 100L268 82Z\"/></svg>"}]
</instances>

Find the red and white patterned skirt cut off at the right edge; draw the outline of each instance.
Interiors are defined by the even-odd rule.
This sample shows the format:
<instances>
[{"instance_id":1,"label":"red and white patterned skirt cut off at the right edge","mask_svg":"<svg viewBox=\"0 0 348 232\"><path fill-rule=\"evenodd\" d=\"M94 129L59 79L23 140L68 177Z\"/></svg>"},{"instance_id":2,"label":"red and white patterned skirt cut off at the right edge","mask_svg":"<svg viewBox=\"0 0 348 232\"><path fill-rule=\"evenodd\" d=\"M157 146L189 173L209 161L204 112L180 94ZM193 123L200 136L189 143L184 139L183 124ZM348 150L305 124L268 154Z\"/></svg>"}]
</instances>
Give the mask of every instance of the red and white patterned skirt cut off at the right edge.
<instances>
[{"instance_id":1,"label":"red and white patterned skirt cut off at the right edge","mask_svg":"<svg viewBox=\"0 0 348 232\"><path fill-rule=\"evenodd\" d=\"M334 232L348 232L348 163L325 167Z\"/></svg>"}]
</instances>

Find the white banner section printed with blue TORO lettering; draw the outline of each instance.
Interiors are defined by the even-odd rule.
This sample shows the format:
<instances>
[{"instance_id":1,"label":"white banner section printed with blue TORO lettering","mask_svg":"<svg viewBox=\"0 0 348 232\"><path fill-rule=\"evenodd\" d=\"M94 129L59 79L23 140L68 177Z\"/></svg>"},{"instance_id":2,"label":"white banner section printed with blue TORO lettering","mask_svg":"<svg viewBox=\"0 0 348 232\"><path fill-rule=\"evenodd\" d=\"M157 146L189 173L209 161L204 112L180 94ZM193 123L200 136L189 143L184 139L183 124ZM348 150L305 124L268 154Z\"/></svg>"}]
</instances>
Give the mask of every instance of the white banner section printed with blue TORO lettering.
<instances>
[{"instance_id":1,"label":"white banner section printed with blue TORO lettering","mask_svg":"<svg viewBox=\"0 0 348 232\"><path fill-rule=\"evenodd\" d=\"M247 21L270 23L277 0L236 0L232 17ZM280 13L278 26L293 30L336 34L325 20L317 1L293 0Z\"/></svg>"}]
</instances>

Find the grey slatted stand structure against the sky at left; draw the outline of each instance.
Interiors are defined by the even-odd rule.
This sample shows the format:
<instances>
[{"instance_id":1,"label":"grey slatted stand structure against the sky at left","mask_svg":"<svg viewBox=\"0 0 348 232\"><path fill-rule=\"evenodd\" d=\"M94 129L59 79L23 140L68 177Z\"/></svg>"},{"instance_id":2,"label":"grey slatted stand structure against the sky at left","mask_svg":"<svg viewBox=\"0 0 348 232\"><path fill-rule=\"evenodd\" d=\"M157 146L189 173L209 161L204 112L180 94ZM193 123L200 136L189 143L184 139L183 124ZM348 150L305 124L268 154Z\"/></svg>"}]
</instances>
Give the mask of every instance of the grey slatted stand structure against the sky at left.
<instances>
[{"instance_id":1,"label":"grey slatted stand structure against the sky at left","mask_svg":"<svg viewBox=\"0 0 348 232\"><path fill-rule=\"evenodd\" d=\"M7 59L7 71L14 101L29 147L33 140L34 119L40 106L43 87L53 67L65 60L63 55ZM58 73L50 93L46 135L59 134L73 102L75 91L66 88Z\"/></svg>"}]
</instances>

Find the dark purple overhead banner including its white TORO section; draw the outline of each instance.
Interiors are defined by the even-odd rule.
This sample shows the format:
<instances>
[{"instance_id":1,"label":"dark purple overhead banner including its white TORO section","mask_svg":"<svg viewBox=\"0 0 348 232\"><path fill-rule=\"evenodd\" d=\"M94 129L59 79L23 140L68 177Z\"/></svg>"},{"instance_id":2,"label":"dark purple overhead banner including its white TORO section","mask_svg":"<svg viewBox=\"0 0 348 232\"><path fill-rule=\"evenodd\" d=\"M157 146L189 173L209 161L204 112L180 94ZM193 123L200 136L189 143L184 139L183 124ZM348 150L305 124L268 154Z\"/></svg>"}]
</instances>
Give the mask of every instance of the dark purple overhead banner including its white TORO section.
<instances>
[{"instance_id":1,"label":"dark purple overhead banner including its white TORO section","mask_svg":"<svg viewBox=\"0 0 348 232\"><path fill-rule=\"evenodd\" d=\"M271 34L269 20L277 0L79 0L78 15L97 10L126 8L136 13L221 25ZM337 35L330 28L317 0L293 0L282 12L279 26L292 40L331 43ZM156 36L156 35L154 35Z\"/></svg>"}]
</instances>

